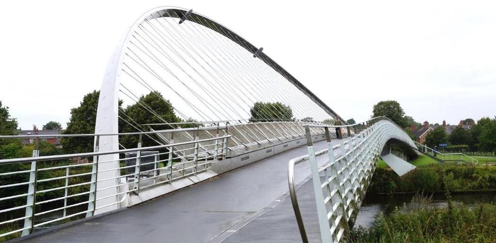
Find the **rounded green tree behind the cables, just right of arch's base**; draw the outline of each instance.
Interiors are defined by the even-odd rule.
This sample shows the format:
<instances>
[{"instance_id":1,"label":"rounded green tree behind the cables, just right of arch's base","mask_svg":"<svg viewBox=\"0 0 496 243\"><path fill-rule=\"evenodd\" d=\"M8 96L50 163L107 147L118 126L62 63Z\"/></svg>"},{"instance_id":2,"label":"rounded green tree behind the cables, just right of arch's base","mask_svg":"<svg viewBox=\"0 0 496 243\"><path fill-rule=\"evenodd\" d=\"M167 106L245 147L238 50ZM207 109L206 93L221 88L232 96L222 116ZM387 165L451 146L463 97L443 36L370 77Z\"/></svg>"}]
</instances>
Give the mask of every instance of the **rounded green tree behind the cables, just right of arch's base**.
<instances>
[{"instance_id":1,"label":"rounded green tree behind the cables, just right of arch's base","mask_svg":"<svg viewBox=\"0 0 496 243\"><path fill-rule=\"evenodd\" d=\"M145 109L146 107L147 109ZM155 114L152 114L153 111ZM140 128L140 130L145 130L143 127L139 127L141 124L149 123L169 123L169 122L182 122L182 120L176 116L174 109L170 101L165 100L162 94L158 91L150 92L145 96L141 96L137 103L130 105L124 109L125 120L134 126ZM158 116L157 116L158 115ZM127 122L122 122L120 124L120 132L137 132L138 130L129 125ZM188 119L186 122L195 122L193 119ZM137 124L136 124L137 123ZM193 127L195 124L185 124L183 127ZM177 127L171 127L170 125L156 126L154 128L158 129L172 129ZM154 135L150 135L154 137ZM138 145L138 135L124 135L120 137L120 143L125 148L135 148ZM159 145L156 141L157 138L150 138L143 135L142 146L154 146Z\"/></svg>"}]
</instances>

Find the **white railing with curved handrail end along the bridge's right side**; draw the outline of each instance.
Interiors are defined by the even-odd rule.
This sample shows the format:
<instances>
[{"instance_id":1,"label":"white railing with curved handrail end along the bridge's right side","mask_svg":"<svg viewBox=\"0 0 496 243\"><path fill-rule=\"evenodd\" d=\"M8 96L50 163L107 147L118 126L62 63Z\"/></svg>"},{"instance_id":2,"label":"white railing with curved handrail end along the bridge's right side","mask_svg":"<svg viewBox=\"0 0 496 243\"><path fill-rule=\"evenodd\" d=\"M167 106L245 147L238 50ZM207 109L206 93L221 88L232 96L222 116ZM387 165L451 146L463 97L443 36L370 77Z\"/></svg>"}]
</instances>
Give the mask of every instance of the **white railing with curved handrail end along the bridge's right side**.
<instances>
[{"instance_id":1,"label":"white railing with curved handrail end along the bridge's right side","mask_svg":"<svg viewBox=\"0 0 496 243\"><path fill-rule=\"evenodd\" d=\"M394 138L415 149L415 144L410 137L389 119L373 118L365 125L364 123L360 124L360 129L357 128L359 124L319 125L325 129L327 148L314 151L311 136L307 135L309 154L289 161L289 191L303 242L308 242L308 238L294 186L296 164L304 161L310 162L322 242L340 242L349 230L348 225L354 222L358 214L372 179L377 158L385 143ZM311 126L313 125L306 126L307 134L310 134ZM329 128L347 126L353 127L358 132L348 139L340 139L337 145L332 146ZM345 144L348 144L348 147ZM324 154L327 154L328 159L322 167L318 167L316 157Z\"/></svg>"}]
</instances>

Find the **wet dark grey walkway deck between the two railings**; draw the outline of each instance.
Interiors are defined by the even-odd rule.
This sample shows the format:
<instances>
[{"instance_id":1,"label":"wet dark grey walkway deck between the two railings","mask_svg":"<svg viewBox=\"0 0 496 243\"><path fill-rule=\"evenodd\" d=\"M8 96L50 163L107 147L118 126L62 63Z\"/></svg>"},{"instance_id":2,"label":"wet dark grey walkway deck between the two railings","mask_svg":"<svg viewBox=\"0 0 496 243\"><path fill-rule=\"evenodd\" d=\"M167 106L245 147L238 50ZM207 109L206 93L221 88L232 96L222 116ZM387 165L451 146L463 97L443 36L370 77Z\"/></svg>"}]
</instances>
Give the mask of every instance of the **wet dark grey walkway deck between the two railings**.
<instances>
[{"instance_id":1,"label":"wet dark grey walkway deck between the two railings","mask_svg":"<svg viewBox=\"0 0 496 243\"><path fill-rule=\"evenodd\" d=\"M326 143L314 145L320 150ZM291 200L282 194L288 191L288 161L306 153L306 146L295 148L127 210L28 238L26 242L301 242ZM319 158L319 165L324 157ZM295 182L309 175L308 163L295 167ZM311 190L310 180L298 193L309 238L317 240Z\"/></svg>"}]
</instances>

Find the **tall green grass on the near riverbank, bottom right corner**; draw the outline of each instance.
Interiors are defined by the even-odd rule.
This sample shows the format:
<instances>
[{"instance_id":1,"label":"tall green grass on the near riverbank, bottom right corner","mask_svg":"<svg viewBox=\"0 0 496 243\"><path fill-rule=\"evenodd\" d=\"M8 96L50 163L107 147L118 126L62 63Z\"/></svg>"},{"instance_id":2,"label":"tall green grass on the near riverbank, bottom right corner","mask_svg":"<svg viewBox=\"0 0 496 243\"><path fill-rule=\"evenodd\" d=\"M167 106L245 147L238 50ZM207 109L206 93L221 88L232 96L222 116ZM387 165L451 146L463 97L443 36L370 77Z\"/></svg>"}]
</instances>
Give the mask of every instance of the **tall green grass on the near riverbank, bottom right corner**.
<instances>
[{"instance_id":1,"label":"tall green grass on the near riverbank, bottom right corner","mask_svg":"<svg viewBox=\"0 0 496 243\"><path fill-rule=\"evenodd\" d=\"M421 206L407 211L396 209L389 216L380 214L374 225L351 230L349 242L356 243L448 243L496 242L496 204L479 203L434 207L425 195L417 196Z\"/></svg>"}]
</instances>

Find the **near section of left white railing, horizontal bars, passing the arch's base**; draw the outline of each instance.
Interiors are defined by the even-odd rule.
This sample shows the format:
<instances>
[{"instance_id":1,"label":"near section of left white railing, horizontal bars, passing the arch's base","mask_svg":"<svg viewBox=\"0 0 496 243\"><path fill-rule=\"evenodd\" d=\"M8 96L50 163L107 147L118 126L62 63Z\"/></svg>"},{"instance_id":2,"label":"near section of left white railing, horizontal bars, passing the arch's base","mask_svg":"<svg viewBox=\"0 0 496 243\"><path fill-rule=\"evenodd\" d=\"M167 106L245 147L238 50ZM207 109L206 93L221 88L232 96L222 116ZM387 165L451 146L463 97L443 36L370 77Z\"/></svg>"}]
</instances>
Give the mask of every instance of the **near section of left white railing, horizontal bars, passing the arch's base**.
<instances>
[{"instance_id":1,"label":"near section of left white railing, horizontal bars, passing the arch's base","mask_svg":"<svg viewBox=\"0 0 496 243\"><path fill-rule=\"evenodd\" d=\"M11 219L5 219L0 222L0 227L2 228L9 226L6 232L4 231L0 234L0 239L20 232L22 232L23 236L28 235L37 227L51 225L66 219L83 217L84 215L90 217L93 216L96 210L122 203L130 192L137 194L140 189L163 183L172 183L174 180L205 171L210 168L213 161L225 157L227 140L231 137L230 135L225 135L182 143L141 146L142 135L158 132L160 131L58 135L60 137L91 136L95 137L95 144L98 145L100 136L132 134L139 135L139 142L136 148L117 151L98 151L98 146L95 146L94 152L50 156L40 154L39 139L43 135L29 135L28 137L35 138L32 157L0 160L0 167L3 167L0 178L5 179L14 175L24 175L25 178L28 178L27 181L12 181L11 183L0 185L2 190L14 188L15 191L13 195L4 195L2 193L3 195L0 197L0 213L16 215ZM27 136L0 136L0 139L25 137ZM202 150L199 148L199 144L211 149ZM191 153L184 154L183 157L175 155L175 150L184 145L191 145L194 149ZM187 150L189 151L189 149ZM145 151L157 151L157 153L142 155L142 152ZM125 158L125 153L133 153L133 156ZM118 159L108 161L99 159L99 156L110 154L119 155ZM153 160L151 162L140 163L152 156ZM71 161L71 159L75 158L79 160L86 159L88 163L75 164ZM112 162L118 162L119 166L107 170L98 170L99 165ZM131 163L126 164L126 162ZM143 170L143 168L147 167L148 169ZM10 168L11 171L4 172L6 168ZM130 172L125 172L127 169L131 169ZM108 171L118 172L118 176L97 177L98 174ZM97 197L97 192L110 188L99 185L108 180L119 181L117 185L111 187L124 188L124 190ZM109 197L117 197L118 200L105 205L97 205L97 202ZM25 204L18 206L18 204L12 203L13 201L17 203L24 201ZM81 209L82 207L84 209ZM45 217L48 214L51 216Z\"/></svg>"}]
</instances>

